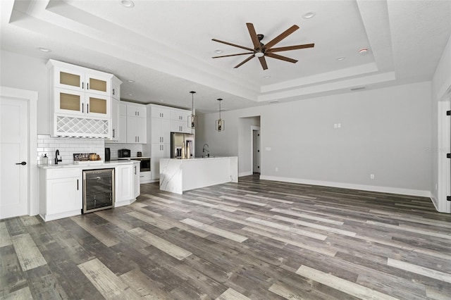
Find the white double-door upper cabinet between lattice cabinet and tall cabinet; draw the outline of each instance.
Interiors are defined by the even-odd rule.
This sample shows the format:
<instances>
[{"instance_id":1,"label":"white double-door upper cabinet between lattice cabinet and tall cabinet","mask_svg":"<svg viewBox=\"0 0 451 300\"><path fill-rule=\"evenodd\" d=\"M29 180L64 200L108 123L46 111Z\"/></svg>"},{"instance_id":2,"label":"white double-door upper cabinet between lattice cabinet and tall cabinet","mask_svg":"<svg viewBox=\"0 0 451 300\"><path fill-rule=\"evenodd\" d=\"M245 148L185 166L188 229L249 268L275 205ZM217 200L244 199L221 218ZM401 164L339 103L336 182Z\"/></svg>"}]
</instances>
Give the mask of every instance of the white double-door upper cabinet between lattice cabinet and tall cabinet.
<instances>
[{"instance_id":1,"label":"white double-door upper cabinet between lattice cabinet and tall cabinet","mask_svg":"<svg viewBox=\"0 0 451 300\"><path fill-rule=\"evenodd\" d=\"M143 104L127 104L127 143L147 143L147 114Z\"/></svg>"}]
</instances>

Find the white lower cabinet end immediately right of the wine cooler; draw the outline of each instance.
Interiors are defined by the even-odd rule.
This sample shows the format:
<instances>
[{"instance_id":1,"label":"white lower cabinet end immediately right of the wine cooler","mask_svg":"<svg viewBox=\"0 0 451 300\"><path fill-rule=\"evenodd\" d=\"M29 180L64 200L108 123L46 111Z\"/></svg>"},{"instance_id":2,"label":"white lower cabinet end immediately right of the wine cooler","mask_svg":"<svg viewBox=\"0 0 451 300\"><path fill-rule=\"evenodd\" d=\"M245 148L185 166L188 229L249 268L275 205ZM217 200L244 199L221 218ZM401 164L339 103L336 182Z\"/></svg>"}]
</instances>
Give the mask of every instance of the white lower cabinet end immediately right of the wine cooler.
<instances>
[{"instance_id":1,"label":"white lower cabinet end immediately right of the wine cooler","mask_svg":"<svg viewBox=\"0 0 451 300\"><path fill-rule=\"evenodd\" d=\"M116 203L115 207L130 204L133 197L133 165L116 166Z\"/></svg>"}]
</instances>

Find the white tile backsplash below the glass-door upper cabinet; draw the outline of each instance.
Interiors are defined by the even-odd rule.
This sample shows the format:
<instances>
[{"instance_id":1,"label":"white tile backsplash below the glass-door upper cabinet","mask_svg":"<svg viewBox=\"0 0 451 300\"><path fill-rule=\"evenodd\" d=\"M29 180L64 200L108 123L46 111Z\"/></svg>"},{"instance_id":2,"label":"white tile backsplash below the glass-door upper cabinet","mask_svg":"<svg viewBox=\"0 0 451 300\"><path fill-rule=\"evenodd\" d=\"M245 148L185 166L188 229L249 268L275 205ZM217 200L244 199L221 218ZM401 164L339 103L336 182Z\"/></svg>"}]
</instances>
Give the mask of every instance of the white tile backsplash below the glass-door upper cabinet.
<instances>
[{"instance_id":1,"label":"white tile backsplash below the glass-door upper cabinet","mask_svg":"<svg viewBox=\"0 0 451 300\"><path fill-rule=\"evenodd\" d=\"M49 165L53 165L56 149L58 149L59 155L63 160L61 163L73 163L74 153L95 153L99 154L101 161L105 160L105 142L103 139L78 139L74 137L37 135L37 163L39 165L42 163L44 154L47 154L49 157Z\"/></svg>"}]
</instances>

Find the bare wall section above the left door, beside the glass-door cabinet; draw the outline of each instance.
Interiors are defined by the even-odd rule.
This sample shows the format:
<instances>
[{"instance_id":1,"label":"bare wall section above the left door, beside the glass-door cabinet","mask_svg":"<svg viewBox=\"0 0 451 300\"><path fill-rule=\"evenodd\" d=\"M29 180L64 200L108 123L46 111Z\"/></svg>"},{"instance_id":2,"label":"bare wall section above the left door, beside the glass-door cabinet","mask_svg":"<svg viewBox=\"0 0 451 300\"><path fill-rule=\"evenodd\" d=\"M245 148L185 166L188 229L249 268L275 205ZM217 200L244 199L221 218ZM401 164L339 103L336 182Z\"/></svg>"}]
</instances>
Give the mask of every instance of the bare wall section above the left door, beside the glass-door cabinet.
<instances>
[{"instance_id":1,"label":"bare wall section above the left door, beside the glass-door cabinet","mask_svg":"<svg viewBox=\"0 0 451 300\"><path fill-rule=\"evenodd\" d=\"M49 70L47 61L1 50L0 85L37 91L37 133L50 135Z\"/></svg>"}]
</instances>

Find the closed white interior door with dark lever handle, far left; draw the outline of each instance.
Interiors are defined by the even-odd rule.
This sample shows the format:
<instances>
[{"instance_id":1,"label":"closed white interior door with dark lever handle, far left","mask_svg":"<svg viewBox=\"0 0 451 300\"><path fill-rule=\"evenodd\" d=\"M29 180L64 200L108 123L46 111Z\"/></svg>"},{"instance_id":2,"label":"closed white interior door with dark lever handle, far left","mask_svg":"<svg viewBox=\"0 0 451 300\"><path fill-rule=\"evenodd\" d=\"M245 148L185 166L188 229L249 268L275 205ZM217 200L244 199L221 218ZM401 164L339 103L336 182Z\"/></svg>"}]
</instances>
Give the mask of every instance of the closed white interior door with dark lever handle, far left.
<instances>
[{"instance_id":1,"label":"closed white interior door with dark lever handle, far left","mask_svg":"<svg viewBox=\"0 0 451 300\"><path fill-rule=\"evenodd\" d=\"M29 213L28 122L27 101L1 96L0 218Z\"/></svg>"}]
</instances>

